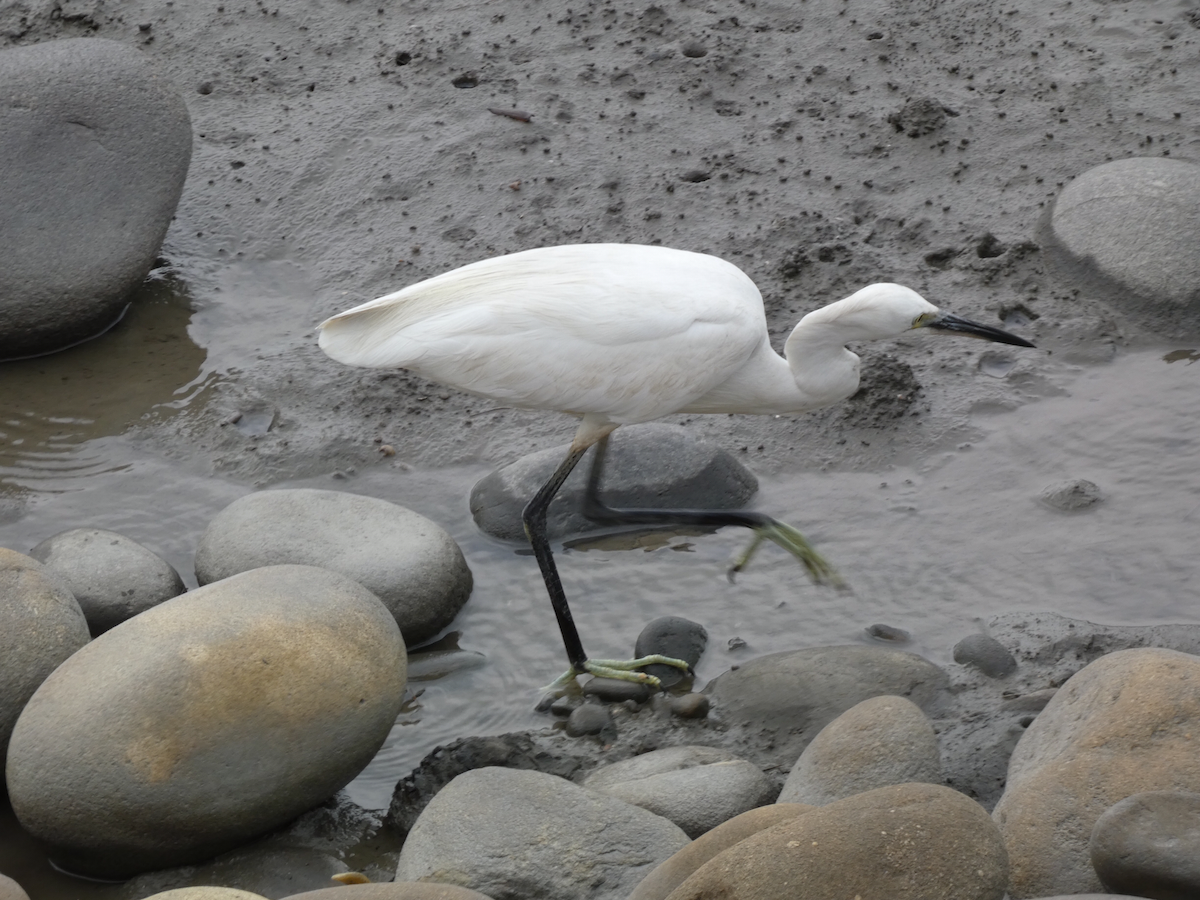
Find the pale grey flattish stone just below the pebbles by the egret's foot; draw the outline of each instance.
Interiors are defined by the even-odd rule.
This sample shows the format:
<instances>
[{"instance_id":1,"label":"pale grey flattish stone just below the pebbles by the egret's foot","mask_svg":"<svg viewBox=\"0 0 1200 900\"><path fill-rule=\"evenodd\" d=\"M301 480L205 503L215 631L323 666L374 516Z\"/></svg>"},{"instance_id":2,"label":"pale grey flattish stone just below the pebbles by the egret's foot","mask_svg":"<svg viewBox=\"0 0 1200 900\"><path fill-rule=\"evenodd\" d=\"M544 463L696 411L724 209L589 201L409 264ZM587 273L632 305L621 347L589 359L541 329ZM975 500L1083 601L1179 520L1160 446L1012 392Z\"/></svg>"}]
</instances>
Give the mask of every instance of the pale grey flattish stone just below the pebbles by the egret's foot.
<instances>
[{"instance_id":1,"label":"pale grey flattish stone just below the pebbles by the egret's foot","mask_svg":"<svg viewBox=\"0 0 1200 900\"><path fill-rule=\"evenodd\" d=\"M652 750L602 766L583 786L670 818L694 839L776 793L757 766L708 746Z\"/></svg>"}]
</instances>

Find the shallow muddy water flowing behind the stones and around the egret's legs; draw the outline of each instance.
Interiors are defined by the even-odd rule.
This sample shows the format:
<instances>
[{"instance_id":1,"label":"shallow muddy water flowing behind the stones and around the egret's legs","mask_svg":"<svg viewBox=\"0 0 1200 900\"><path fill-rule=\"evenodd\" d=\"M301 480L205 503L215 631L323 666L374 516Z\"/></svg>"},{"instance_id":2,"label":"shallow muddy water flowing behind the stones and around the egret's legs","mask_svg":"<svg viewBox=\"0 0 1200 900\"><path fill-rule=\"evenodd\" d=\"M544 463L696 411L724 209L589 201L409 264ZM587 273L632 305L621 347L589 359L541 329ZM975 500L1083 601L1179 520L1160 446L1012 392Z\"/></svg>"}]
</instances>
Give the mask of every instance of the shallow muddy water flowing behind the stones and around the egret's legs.
<instances>
[{"instance_id":1,"label":"shallow muddy water flowing behind the stones and around the egret's legs","mask_svg":"<svg viewBox=\"0 0 1200 900\"><path fill-rule=\"evenodd\" d=\"M109 336L68 352L74 358L5 371L0 498L13 505L0 515L0 545L28 552L67 528L109 528L146 544L194 586L192 552L200 533L251 488L148 454L122 434L142 416L203 402L211 367L186 340L186 299L150 295ZM160 353L162 347L170 353ZM137 371L154 377L137 390L116 390L133 358ZM595 656L624 656L649 619L686 616L709 631L697 668L702 685L763 653L870 641L864 629L874 623L904 629L912 635L907 649L946 661L959 638L1013 610L1106 623L1194 622L1194 362L1187 349L1130 352L1080 368L1061 396L1015 410L980 407L973 424L982 437L935 457L882 472L797 470L762 479L758 509L804 530L852 593L812 587L794 560L770 546L731 584L726 564L746 540L732 529L635 550L602 542L566 550L562 572L584 643ZM985 374L1006 374L995 359L984 358L982 366ZM83 371L92 373L91 398L62 380ZM22 386L8 390L14 379ZM56 392L61 385L66 390ZM475 575L452 630L486 664L410 685L412 694L421 692L348 788L364 806L386 806L396 780L438 744L547 724L532 712L536 689L565 659L533 559L482 536L470 520L467 494L485 473L480 466L421 470L383 463L352 478L281 485L409 506L460 541ZM1096 482L1104 499L1074 514L1038 499L1048 485L1070 479ZM86 889L64 881L38 893L64 892Z\"/></svg>"}]
</instances>

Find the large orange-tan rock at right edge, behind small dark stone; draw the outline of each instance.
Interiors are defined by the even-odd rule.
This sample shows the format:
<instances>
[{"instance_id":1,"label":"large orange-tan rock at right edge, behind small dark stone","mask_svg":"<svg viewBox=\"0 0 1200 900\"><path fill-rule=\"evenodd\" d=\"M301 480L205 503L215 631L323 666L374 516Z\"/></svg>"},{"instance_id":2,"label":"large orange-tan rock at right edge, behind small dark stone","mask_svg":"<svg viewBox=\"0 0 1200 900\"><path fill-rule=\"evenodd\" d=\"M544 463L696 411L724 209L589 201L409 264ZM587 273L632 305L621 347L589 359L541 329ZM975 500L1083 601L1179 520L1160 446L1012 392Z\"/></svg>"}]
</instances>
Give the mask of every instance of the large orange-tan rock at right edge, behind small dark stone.
<instances>
[{"instance_id":1,"label":"large orange-tan rock at right edge, behind small dark stone","mask_svg":"<svg viewBox=\"0 0 1200 900\"><path fill-rule=\"evenodd\" d=\"M1142 791L1200 791L1198 730L1198 656L1120 650L1073 676L1018 743L994 812L1013 898L1100 890L1097 820Z\"/></svg>"}]
</instances>

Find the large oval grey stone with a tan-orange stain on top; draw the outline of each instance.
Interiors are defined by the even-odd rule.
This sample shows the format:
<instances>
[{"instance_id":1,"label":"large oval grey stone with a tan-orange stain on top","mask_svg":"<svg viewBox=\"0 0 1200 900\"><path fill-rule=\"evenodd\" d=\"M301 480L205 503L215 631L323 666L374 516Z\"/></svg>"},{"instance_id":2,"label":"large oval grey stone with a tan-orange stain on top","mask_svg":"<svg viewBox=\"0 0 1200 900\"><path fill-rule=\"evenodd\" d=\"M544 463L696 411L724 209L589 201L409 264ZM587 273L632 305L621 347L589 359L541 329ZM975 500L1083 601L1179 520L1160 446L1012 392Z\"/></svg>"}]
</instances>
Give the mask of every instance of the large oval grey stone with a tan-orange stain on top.
<instances>
[{"instance_id":1,"label":"large oval grey stone with a tan-orange stain on top","mask_svg":"<svg viewBox=\"0 0 1200 900\"><path fill-rule=\"evenodd\" d=\"M68 871L198 862L349 782L403 692L400 629L366 588L312 566L256 569L59 666L13 731L8 794Z\"/></svg>"}]
</instances>

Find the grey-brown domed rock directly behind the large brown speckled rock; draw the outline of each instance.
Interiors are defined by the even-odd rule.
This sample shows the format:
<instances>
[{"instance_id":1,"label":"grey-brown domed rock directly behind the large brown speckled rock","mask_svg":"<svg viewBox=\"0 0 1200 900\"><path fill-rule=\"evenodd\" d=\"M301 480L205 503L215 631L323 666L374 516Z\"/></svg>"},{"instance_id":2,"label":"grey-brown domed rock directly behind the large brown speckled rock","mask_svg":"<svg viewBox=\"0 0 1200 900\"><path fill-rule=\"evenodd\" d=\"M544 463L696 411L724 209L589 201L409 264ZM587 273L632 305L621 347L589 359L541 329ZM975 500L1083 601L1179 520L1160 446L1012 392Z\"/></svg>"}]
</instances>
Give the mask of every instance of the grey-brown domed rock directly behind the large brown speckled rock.
<instances>
[{"instance_id":1,"label":"grey-brown domed rock directly behind the large brown speckled rock","mask_svg":"<svg viewBox=\"0 0 1200 900\"><path fill-rule=\"evenodd\" d=\"M904 697L864 700L812 738L784 782L779 803L827 803L908 781L942 782L937 734Z\"/></svg>"}]
</instances>

